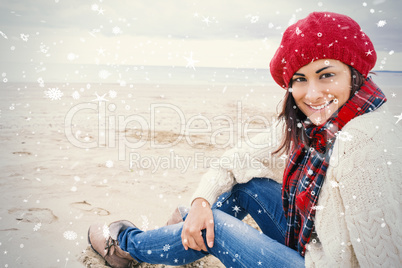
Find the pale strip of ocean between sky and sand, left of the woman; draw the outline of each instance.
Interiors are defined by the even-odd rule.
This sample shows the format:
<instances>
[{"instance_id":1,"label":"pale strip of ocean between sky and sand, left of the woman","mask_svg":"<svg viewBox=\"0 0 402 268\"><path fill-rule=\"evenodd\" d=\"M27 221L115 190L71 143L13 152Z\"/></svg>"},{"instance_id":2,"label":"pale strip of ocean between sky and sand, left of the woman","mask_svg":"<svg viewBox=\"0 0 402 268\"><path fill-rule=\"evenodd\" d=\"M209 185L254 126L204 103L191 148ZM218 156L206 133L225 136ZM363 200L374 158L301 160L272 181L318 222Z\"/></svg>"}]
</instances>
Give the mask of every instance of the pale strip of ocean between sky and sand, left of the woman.
<instances>
[{"instance_id":1,"label":"pale strip of ocean between sky and sand, left of the woman","mask_svg":"<svg viewBox=\"0 0 402 268\"><path fill-rule=\"evenodd\" d=\"M96 64L10 64L3 68L7 82L120 84L274 84L269 69Z\"/></svg>"}]
</instances>

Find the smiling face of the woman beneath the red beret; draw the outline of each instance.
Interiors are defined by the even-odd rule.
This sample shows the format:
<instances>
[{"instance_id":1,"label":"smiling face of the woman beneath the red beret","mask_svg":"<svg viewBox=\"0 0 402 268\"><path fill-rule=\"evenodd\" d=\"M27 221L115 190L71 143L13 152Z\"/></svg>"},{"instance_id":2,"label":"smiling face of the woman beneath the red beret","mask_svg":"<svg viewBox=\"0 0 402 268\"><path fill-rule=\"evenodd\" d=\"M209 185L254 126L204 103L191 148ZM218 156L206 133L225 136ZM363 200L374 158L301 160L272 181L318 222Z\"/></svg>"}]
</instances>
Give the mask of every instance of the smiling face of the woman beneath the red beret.
<instances>
[{"instance_id":1,"label":"smiling face of the woman beneath the red beret","mask_svg":"<svg viewBox=\"0 0 402 268\"><path fill-rule=\"evenodd\" d=\"M300 68L292 77L292 95L297 107L315 125L325 123L350 96L349 66L321 59Z\"/></svg>"}]
</instances>

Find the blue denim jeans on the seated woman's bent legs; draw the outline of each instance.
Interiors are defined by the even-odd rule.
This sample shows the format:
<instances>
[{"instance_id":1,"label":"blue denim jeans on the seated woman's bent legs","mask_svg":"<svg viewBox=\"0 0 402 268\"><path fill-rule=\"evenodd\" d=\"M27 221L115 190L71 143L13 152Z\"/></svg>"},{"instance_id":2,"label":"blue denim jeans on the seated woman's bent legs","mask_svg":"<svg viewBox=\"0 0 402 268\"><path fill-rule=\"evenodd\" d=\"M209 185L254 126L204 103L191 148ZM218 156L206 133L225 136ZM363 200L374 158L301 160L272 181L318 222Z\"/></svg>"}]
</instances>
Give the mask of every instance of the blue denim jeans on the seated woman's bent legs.
<instances>
[{"instance_id":1,"label":"blue denim jeans on the seated woman's bent legs","mask_svg":"<svg viewBox=\"0 0 402 268\"><path fill-rule=\"evenodd\" d=\"M208 252L184 249L183 223L145 232L126 229L119 234L120 247L137 261L153 264L184 265L212 254L226 267L304 267L304 258L284 245L286 219L279 183L254 178L236 184L218 198L212 212L215 240ZM247 214L262 232L241 221ZM206 241L205 230L202 235Z\"/></svg>"}]
</instances>

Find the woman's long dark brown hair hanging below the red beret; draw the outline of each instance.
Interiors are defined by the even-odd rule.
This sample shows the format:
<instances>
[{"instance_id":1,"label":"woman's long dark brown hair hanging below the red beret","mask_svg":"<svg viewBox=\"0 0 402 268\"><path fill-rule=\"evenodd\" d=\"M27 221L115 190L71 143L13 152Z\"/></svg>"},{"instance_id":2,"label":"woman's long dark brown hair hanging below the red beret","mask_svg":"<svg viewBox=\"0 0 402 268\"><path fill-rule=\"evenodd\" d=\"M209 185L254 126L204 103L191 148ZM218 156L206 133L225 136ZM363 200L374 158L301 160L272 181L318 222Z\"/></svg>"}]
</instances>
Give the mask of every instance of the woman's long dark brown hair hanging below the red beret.
<instances>
[{"instance_id":1,"label":"woman's long dark brown hair hanging below the red beret","mask_svg":"<svg viewBox=\"0 0 402 268\"><path fill-rule=\"evenodd\" d=\"M349 69L352 80L350 96L352 96L363 85L364 77L355 68L349 66ZM292 81L289 82L289 88L291 87ZM304 131L304 128L299 125L306 120L307 117L299 108L297 108L296 102L290 90L287 90L286 92L283 100L282 111L280 112L278 119L279 121L285 121L283 127L284 135L282 137L281 144L279 145L278 149L274 151L274 154L289 154L295 145L299 143L303 143L305 145L309 144L310 141Z\"/></svg>"}]
</instances>

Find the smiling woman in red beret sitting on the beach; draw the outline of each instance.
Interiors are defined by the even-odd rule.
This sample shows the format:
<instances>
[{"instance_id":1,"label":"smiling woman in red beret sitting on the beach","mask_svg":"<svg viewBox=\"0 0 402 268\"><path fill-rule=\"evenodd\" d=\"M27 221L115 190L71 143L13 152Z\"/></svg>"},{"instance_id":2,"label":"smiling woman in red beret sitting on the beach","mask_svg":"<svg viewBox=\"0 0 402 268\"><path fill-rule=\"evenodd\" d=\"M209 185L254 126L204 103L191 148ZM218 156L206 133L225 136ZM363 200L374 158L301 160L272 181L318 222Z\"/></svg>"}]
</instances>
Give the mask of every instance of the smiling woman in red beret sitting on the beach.
<instances>
[{"instance_id":1,"label":"smiling woman in red beret sitting on the beach","mask_svg":"<svg viewBox=\"0 0 402 268\"><path fill-rule=\"evenodd\" d=\"M213 254L227 267L395 267L402 263L401 129L367 78L376 62L351 18L314 12L291 25L270 64L287 89L282 143L257 135L235 154L261 168L211 169L185 222L143 232L128 221L89 229L115 267L182 265ZM266 145L266 146L253 146ZM282 185L274 161L288 155ZM261 232L240 221L250 214Z\"/></svg>"}]
</instances>

